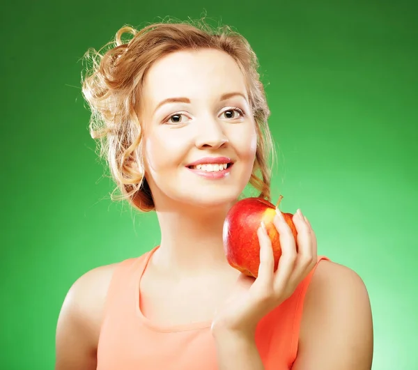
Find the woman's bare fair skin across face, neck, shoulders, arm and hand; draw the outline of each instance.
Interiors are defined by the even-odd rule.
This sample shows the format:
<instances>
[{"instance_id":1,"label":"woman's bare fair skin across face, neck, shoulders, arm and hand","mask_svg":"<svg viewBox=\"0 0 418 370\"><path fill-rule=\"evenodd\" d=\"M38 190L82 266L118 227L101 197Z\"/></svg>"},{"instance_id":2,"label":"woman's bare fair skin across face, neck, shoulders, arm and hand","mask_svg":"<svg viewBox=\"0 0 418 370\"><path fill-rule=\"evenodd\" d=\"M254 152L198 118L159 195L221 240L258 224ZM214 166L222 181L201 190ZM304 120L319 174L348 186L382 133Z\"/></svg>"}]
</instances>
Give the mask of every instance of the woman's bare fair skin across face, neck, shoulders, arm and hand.
<instances>
[{"instance_id":1,"label":"woman's bare fair skin across face, neck, shoulders, arm and hand","mask_svg":"<svg viewBox=\"0 0 418 370\"><path fill-rule=\"evenodd\" d=\"M242 95L221 101L225 93ZM156 110L160 102L173 97L185 97L189 102L170 102ZM293 222L301 247L296 253L290 229L278 214L274 226L280 233L283 255L276 273L270 240L262 228L258 230L258 279L240 275L225 259L224 218L249 180L256 151L256 123L245 79L223 52L176 52L150 68L141 108L146 178L162 235L160 248L144 273L144 285L141 283L150 302L143 308L144 314L163 323L183 323L191 315L205 320L216 311L211 330L219 369L263 369L254 327L314 267L317 247L308 219L297 213ZM207 180L185 167L201 157L220 155L233 159L229 178ZM56 370L95 369L103 307L115 267L105 265L87 272L68 291L56 330ZM164 291L173 288L185 293L194 289L196 281L199 286L219 287L206 292L208 305L189 302L189 311L169 310L171 316L158 309L161 298L153 295L152 282L166 287ZM169 305L170 298L166 300L164 304ZM205 307L209 308L205 311ZM318 265L304 304L299 345L293 370L371 369L369 296L353 270L330 261Z\"/></svg>"}]
</instances>

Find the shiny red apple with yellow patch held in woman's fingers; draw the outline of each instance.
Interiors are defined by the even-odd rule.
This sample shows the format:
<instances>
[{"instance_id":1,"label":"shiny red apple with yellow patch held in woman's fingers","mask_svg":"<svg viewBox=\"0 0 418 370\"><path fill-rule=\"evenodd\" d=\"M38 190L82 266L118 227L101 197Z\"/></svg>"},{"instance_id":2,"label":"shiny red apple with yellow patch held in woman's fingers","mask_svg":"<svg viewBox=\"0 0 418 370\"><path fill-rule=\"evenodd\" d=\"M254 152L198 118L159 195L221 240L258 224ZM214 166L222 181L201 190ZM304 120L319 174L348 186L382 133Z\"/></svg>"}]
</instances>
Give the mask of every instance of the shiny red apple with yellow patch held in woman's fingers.
<instances>
[{"instance_id":1,"label":"shiny red apple with yellow patch held in woman's fingers","mask_svg":"<svg viewBox=\"0 0 418 370\"><path fill-rule=\"evenodd\" d=\"M277 202L279 205L281 198ZM257 229L264 222L272 241L274 255L274 271L277 270L281 256L279 233L273 224L276 206L262 198L246 198L238 201L229 210L224 222L223 238L224 252L228 263L245 275L258 276L260 265L260 243ZM291 227L297 249L297 231L293 224L291 213L282 213L287 224Z\"/></svg>"}]
</instances>

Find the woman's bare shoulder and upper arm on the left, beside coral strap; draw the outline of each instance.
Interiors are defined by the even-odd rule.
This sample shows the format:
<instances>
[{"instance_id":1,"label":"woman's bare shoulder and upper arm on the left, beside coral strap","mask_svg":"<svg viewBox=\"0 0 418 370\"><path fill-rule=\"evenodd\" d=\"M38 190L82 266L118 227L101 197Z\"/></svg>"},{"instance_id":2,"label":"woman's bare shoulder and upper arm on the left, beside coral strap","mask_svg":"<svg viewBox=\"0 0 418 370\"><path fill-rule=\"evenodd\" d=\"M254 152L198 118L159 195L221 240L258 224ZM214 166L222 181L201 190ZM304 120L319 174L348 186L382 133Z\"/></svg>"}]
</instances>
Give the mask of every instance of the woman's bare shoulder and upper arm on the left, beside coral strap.
<instances>
[{"instance_id":1,"label":"woman's bare shoulder and upper arm on the left, beside coral strap","mask_svg":"<svg viewBox=\"0 0 418 370\"><path fill-rule=\"evenodd\" d=\"M55 369L95 369L104 304L117 265L89 270L65 295L56 325Z\"/></svg>"}]
</instances>

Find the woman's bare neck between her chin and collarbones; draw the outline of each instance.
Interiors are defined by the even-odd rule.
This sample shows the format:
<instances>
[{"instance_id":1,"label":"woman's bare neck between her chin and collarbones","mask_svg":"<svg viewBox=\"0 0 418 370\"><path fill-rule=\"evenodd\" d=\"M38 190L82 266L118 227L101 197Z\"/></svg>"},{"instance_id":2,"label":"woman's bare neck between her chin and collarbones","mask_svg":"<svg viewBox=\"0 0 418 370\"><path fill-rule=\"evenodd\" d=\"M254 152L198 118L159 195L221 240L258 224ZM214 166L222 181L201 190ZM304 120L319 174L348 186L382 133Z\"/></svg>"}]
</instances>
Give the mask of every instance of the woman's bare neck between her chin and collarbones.
<instances>
[{"instance_id":1,"label":"woman's bare neck between her chin and collarbones","mask_svg":"<svg viewBox=\"0 0 418 370\"><path fill-rule=\"evenodd\" d=\"M222 229L230 206L157 209L161 229L160 248L153 263L176 275L206 274L230 268L224 254Z\"/></svg>"}]
</instances>

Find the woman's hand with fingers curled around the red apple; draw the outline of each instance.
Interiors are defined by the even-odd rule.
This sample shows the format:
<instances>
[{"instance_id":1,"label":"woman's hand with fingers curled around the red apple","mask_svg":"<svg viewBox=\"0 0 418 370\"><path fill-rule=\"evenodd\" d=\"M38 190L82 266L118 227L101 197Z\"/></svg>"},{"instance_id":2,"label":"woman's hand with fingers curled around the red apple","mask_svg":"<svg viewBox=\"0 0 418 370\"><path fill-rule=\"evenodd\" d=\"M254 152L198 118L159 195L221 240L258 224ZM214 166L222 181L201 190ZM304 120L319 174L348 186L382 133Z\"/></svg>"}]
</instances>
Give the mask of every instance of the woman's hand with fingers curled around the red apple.
<instances>
[{"instance_id":1,"label":"woman's hand with fingers curled around the red apple","mask_svg":"<svg viewBox=\"0 0 418 370\"><path fill-rule=\"evenodd\" d=\"M218 309L212 321L212 332L233 332L254 335L258 321L289 298L295 288L307 277L317 261L316 236L307 217L300 210L293 215L297 230L295 238L279 209L273 224L279 232L281 257L274 272L272 243L262 224L257 231L260 243L258 277L241 274L235 291Z\"/></svg>"}]
</instances>

